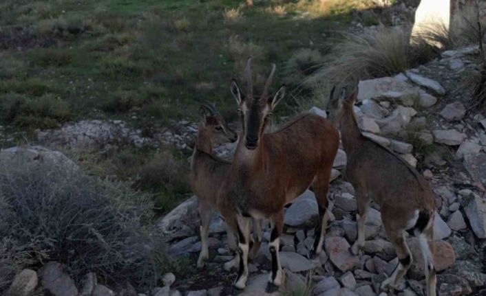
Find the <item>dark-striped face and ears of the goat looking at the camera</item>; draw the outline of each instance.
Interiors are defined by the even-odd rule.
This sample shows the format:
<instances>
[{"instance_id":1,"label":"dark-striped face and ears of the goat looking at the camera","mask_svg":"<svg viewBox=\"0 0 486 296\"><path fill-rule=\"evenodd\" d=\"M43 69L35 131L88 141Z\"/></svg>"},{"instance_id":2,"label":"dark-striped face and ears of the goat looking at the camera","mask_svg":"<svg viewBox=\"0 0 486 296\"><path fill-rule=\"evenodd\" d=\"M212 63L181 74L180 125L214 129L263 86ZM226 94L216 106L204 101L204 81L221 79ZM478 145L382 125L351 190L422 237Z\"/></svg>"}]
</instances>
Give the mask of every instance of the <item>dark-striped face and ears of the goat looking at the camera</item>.
<instances>
[{"instance_id":1,"label":"dark-striped face and ears of the goat looking at the camera","mask_svg":"<svg viewBox=\"0 0 486 296\"><path fill-rule=\"evenodd\" d=\"M231 81L231 93L238 104L238 113L242 124L241 140L245 141L244 146L249 150L258 147L260 139L264 133L268 119L271 117L273 109L284 98L285 86L283 85L272 95L242 95L239 84L236 80Z\"/></svg>"}]
</instances>

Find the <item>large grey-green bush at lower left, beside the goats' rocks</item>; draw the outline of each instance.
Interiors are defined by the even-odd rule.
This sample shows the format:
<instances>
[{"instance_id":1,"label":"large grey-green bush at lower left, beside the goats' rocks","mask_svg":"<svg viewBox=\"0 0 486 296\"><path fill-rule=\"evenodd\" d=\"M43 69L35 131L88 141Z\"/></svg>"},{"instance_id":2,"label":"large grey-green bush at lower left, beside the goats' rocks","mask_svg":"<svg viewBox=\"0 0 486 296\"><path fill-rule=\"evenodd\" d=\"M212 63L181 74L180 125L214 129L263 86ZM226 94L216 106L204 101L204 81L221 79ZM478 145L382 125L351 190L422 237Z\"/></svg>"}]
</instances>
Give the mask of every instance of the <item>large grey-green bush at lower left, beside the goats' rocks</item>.
<instances>
[{"instance_id":1,"label":"large grey-green bush at lower left, beside the goats' rocks","mask_svg":"<svg viewBox=\"0 0 486 296\"><path fill-rule=\"evenodd\" d=\"M15 271L48 260L75 280L94 271L107 282L154 286L172 263L147 236L152 207L151 196L70 161L0 157L0 266L8 271L0 292Z\"/></svg>"}]
</instances>

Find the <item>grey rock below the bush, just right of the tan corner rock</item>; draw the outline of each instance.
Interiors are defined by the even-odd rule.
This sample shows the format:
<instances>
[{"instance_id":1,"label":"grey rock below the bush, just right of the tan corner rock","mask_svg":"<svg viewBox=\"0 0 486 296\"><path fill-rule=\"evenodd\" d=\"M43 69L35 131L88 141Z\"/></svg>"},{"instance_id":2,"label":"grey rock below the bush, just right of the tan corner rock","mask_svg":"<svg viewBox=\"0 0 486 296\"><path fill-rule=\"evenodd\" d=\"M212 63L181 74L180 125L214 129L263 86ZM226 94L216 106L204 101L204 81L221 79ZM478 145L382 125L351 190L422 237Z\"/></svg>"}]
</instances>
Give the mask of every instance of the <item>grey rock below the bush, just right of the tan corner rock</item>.
<instances>
[{"instance_id":1,"label":"grey rock below the bush, just right of the tan corner rock","mask_svg":"<svg viewBox=\"0 0 486 296\"><path fill-rule=\"evenodd\" d=\"M59 262L47 262L39 271L41 283L54 296L77 296L78 289Z\"/></svg>"}]
</instances>

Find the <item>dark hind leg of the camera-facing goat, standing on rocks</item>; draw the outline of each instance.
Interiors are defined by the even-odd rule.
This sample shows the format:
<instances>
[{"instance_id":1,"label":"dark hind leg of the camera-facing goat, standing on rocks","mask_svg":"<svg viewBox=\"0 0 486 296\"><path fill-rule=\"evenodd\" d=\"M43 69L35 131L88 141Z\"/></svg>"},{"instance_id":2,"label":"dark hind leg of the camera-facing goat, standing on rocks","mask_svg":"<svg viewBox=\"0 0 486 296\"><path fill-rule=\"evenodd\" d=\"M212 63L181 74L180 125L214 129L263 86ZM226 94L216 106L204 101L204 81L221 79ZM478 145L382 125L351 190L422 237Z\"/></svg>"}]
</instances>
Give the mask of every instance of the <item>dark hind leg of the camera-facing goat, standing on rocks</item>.
<instances>
[{"instance_id":1,"label":"dark hind leg of the camera-facing goat, standing on rocks","mask_svg":"<svg viewBox=\"0 0 486 296\"><path fill-rule=\"evenodd\" d=\"M321 172L318 174L312 184L314 190L317 206L319 207L319 223L315 227L314 246L310 252L309 257L312 258L314 254L319 255L324 244L324 235L328 227L328 190L329 190L330 171Z\"/></svg>"}]
</instances>

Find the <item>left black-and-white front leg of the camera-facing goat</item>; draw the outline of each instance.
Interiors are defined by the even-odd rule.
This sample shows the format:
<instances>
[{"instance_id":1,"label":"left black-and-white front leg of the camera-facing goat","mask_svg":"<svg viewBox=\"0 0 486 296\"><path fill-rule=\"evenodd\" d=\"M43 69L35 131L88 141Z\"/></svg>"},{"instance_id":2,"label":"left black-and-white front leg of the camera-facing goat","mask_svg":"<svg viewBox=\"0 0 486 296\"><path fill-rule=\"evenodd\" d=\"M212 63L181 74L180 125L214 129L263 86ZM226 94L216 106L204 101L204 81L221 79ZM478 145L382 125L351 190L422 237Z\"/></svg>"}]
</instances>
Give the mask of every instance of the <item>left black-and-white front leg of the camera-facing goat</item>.
<instances>
[{"instance_id":1,"label":"left black-and-white front leg of the camera-facing goat","mask_svg":"<svg viewBox=\"0 0 486 296\"><path fill-rule=\"evenodd\" d=\"M239 289L246 287L246 280L248 280L248 253L250 249L250 227L251 218L238 216L238 251L240 252L240 270L236 278L234 286Z\"/></svg>"}]
</instances>

